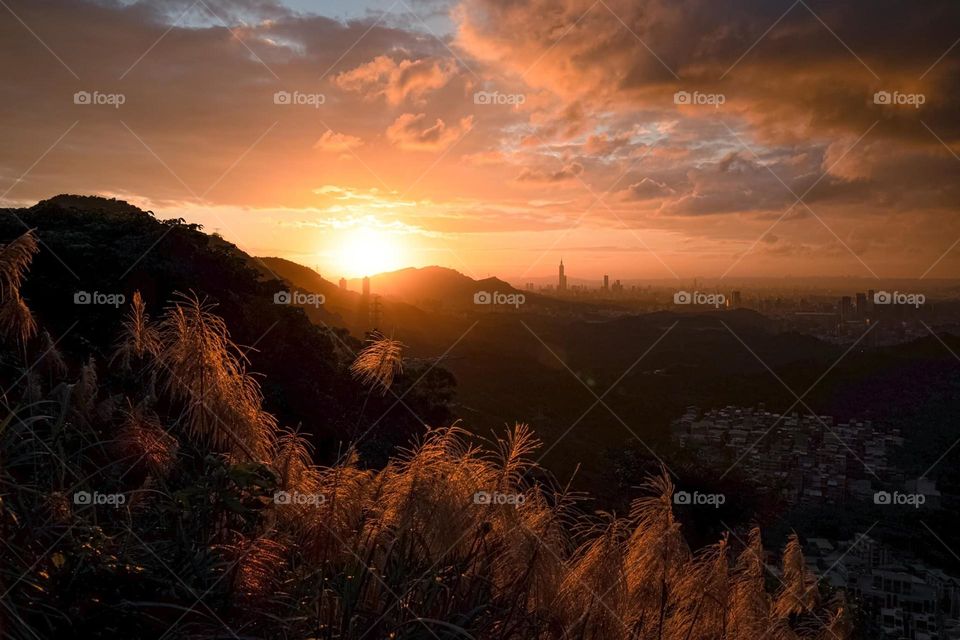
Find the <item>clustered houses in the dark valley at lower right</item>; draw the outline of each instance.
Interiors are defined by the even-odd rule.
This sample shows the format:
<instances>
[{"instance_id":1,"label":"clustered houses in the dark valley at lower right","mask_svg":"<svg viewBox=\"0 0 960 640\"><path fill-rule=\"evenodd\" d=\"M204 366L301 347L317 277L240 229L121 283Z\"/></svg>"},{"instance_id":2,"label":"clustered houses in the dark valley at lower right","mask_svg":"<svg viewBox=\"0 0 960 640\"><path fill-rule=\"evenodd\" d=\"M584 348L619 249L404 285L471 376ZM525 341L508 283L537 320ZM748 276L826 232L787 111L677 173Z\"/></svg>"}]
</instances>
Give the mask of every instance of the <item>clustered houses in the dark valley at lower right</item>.
<instances>
[{"instance_id":1,"label":"clustered houses in the dark valley at lower right","mask_svg":"<svg viewBox=\"0 0 960 640\"><path fill-rule=\"evenodd\" d=\"M897 429L870 420L782 415L753 407L689 407L673 421L675 444L706 468L738 468L762 491L791 505L943 507L936 481L909 478L891 460L903 446ZM960 579L861 532L850 540L808 538L808 568L859 602L865 637L960 638ZM780 568L768 569L780 575Z\"/></svg>"}]
</instances>

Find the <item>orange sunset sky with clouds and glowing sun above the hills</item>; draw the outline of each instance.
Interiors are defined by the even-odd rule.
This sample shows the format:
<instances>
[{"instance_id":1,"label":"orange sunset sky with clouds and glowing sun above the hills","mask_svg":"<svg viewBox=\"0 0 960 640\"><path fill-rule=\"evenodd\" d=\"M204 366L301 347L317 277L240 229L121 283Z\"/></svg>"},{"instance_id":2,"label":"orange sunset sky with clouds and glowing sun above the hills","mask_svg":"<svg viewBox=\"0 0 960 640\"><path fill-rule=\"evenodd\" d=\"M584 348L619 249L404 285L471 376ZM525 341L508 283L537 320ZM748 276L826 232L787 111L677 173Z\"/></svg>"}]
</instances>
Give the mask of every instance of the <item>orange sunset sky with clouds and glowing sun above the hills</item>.
<instances>
[{"instance_id":1,"label":"orange sunset sky with clouds and glowing sun above the hills","mask_svg":"<svg viewBox=\"0 0 960 640\"><path fill-rule=\"evenodd\" d=\"M955 0L2 0L0 195L357 277L960 273Z\"/></svg>"}]
</instances>

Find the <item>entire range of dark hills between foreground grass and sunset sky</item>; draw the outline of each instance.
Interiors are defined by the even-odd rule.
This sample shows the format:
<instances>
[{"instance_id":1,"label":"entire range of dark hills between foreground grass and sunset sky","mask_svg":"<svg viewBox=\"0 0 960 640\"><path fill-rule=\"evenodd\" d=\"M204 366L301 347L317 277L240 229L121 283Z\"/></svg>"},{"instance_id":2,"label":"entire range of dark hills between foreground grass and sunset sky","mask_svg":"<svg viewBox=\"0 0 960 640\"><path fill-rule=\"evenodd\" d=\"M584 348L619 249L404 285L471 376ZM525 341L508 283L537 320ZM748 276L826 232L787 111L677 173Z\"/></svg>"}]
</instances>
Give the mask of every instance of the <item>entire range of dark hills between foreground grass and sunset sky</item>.
<instances>
[{"instance_id":1,"label":"entire range of dark hills between foreground grass and sunset sky","mask_svg":"<svg viewBox=\"0 0 960 640\"><path fill-rule=\"evenodd\" d=\"M196 225L160 220L120 201L60 196L2 214L0 242L26 227L37 229L43 250L24 296L54 338L62 336L68 355L93 350L107 367L124 313L95 305L65 313L78 291L129 299L139 290L153 317L175 292L195 291L216 302L236 339L253 347L249 366L265 374L267 408L283 424L302 424L321 455L374 422L383 450L424 423L462 418L466 428L485 434L525 422L547 444L548 468L566 477L582 463L579 480L595 487L603 484L605 451L635 437L661 450L670 419L686 405L764 402L784 410L795 401L784 385L798 394L813 385L805 402L817 412L870 416L916 434L908 438L918 460L930 459L926 449L949 447L956 431L947 399L957 385L957 363L932 337L844 354L842 347L781 333L744 310L611 319L588 305L534 294L518 307L474 304L478 291L520 292L440 267L372 279L380 304L376 328L408 346L397 383L403 403L392 406L391 396L367 398L347 371L374 327L369 308L358 311L357 291L286 260L253 258ZM292 287L323 294L324 305L274 303L278 291ZM943 339L960 350L954 337ZM912 401L897 402L906 396Z\"/></svg>"}]
</instances>

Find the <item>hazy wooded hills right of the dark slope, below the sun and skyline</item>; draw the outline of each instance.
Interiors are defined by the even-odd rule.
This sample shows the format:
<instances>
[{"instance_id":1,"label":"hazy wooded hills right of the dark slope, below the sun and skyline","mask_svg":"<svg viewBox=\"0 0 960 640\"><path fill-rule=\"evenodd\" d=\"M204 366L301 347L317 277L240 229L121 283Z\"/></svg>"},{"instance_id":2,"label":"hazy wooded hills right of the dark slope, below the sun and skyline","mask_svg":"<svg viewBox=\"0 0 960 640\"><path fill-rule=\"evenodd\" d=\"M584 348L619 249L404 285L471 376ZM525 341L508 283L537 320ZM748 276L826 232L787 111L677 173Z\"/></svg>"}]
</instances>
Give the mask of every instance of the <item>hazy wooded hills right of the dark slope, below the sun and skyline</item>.
<instances>
[{"instance_id":1,"label":"hazy wooded hills right of the dark slope, below the sun and skyline","mask_svg":"<svg viewBox=\"0 0 960 640\"><path fill-rule=\"evenodd\" d=\"M295 271L319 278L305 267ZM332 284L325 282L312 286ZM582 465L581 481L595 492L602 473L595 461L604 450L639 436L662 452L670 420L691 404L762 402L785 410L796 400L791 390L801 395L812 386L805 402L818 413L872 418L914 433L916 425L925 425L931 437L913 439L905 453L914 460L949 446L944 441L954 433L941 425L957 385L956 362L932 337L881 350L861 347L844 356L844 347L781 333L776 322L747 309L610 319L592 314L588 305L547 299L552 306L490 313L461 303L476 291L516 291L501 280L477 281L428 267L380 274L371 283L387 309L402 304L393 296L431 309L395 314L401 318L394 325L398 335L416 336L417 353L436 356L455 344L444 366L458 380L455 411L468 428L486 432L504 423L530 423L549 448L548 467L565 475ZM443 295L429 295L431 287ZM611 388L603 404L587 411ZM915 401L898 403L897 393Z\"/></svg>"}]
</instances>

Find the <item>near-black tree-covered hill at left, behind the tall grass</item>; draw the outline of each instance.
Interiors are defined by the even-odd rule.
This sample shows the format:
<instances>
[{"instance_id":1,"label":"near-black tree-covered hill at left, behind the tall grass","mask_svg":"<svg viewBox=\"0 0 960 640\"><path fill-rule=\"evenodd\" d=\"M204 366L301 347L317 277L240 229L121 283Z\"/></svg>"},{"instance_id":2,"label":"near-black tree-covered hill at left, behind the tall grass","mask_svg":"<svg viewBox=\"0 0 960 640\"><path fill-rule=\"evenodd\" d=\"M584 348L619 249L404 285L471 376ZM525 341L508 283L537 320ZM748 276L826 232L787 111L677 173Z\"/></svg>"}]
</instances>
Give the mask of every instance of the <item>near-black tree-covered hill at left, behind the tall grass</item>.
<instances>
[{"instance_id":1,"label":"near-black tree-covered hill at left, behind the tall grass","mask_svg":"<svg viewBox=\"0 0 960 640\"><path fill-rule=\"evenodd\" d=\"M311 323L299 308L276 304L274 294L286 284L265 278L250 256L197 225L158 219L119 200L61 195L0 212L0 242L28 228L36 230L40 251L24 298L74 363L92 353L98 369L109 372L126 312L125 305L75 304L78 293L129 301L139 290L156 318L177 292L193 291L215 302L234 339L249 347L250 370L264 376L266 408L282 424L302 425L315 436L321 459L381 415L371 435L390 442L405 442L404 434L419 432L423 422L449 422L443 403L420 389L404 398L412 412L393 406L393 396L376 394L364 407L367 392L347 371L361 342L343 329ZM415 379L399 381L398 393Z\"/></svg>"}]
</instances>

